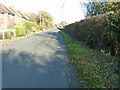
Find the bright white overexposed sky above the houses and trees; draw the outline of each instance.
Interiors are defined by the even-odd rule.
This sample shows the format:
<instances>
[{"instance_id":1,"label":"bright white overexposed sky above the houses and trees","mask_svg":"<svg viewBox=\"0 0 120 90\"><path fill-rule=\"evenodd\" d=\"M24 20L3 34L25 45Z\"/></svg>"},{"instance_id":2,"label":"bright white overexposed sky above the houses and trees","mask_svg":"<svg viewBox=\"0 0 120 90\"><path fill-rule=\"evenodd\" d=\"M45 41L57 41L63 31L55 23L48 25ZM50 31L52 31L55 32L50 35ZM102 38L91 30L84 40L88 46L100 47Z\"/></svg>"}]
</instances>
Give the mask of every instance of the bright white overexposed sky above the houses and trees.
<instances>
[{"instance_id":1,"label":"bright white overexposed sky above the houses and trees","mask_svg":"<svg viewBox=\"0 0 120 90\"><path fill-rule=\"evenodd\" d=\"M13 5L23 12L47 11L54 17L54 23L74 23L84 19L80 0L0 0L5 6ZM63 4L64 2L64 4ZM62 7L63 6L63 7Z\"/></svg>"}]
</instances>

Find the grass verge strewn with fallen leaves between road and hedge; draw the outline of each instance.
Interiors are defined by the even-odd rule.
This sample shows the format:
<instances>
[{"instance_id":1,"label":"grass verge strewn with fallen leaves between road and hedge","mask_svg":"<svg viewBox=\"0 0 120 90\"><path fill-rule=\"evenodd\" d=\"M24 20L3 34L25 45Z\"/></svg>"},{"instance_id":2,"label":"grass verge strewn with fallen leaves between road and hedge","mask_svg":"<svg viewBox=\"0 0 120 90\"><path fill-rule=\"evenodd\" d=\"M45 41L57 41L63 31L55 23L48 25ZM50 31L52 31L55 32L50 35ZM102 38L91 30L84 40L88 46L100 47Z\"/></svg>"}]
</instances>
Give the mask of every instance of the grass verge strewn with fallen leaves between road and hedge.
<instances>
[{"instance_id":1,"label":"grass verge strewn with fallen leaves between road and hedge","mask_svg":"<svg viewBox=\"0 0 120 90\"><path fill-rule=\"evenodd\" d=\"M68 58L77 75L77 88L118 88L118 60L88 48L62 32Z\"/></svg>"}]
</instances>

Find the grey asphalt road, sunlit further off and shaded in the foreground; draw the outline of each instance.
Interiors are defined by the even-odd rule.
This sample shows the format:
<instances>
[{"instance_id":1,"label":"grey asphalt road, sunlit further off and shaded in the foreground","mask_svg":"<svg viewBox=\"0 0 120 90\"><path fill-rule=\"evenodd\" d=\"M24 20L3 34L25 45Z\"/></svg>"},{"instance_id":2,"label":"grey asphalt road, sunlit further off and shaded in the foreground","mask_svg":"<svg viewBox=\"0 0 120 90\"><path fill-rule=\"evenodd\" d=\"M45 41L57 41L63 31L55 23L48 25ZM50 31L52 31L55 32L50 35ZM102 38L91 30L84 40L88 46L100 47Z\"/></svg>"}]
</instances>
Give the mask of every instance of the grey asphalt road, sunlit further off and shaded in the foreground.
<instances>
[{"instance_id":1,"label":"grey asphalt road, sunlit further off and shaded in the foreground","mask_svg":"<svg viewBox=\"0 0 120 90\"><path fill-rule=\"evenodd\" d=\"M74 81L74 69L57 29L2 47L3 88L70 88Z\"/></svg>"}]
</instances>

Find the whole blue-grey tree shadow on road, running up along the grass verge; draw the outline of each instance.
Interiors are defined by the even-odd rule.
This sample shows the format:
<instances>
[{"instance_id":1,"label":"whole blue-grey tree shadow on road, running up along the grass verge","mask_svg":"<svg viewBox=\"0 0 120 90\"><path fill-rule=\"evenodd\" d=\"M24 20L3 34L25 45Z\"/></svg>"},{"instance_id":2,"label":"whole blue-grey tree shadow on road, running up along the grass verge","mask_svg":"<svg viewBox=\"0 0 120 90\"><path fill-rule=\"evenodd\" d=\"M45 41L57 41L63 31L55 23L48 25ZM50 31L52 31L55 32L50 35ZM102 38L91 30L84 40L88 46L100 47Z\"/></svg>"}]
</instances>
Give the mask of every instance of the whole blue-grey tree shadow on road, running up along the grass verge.
<instances>
[{"instance_id":1,"label":"whole blue-grey tree shadow on road, running up along the grass verge","mask_svg":"<svg viewBox=\"0 0 120 90\"><path fill-rule=\"evenodd\" d=\"M54 53L47 51L46 55L17 51L17 49L5 50L2 53L2 85L3 88L67 88L69 86L70 73L68 73L67 53L61 35L54 32L58 43L46 44ZM36 34L37 35L37 34ZM39 36L39 34L38 34ZM59 48L57 48L60 45ZM44 50L44 49L43 49ZM69 70L69 72L71 72Z\"/></svg>"}]
</instances>

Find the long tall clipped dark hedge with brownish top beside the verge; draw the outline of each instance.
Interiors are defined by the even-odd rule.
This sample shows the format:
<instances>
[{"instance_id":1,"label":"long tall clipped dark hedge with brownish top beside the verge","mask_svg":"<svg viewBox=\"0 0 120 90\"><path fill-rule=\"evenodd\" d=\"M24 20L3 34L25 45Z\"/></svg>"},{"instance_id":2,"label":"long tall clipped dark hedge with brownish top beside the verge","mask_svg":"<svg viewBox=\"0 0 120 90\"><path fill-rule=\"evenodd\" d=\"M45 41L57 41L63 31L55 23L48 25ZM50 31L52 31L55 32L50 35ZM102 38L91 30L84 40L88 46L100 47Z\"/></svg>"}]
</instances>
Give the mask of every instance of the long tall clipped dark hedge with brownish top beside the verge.
<instances>
[{"instance_id":1,"label":"long tall clipped dark hedge with brownish top beside the verge","mask_svg":"<svg viewBox=\"0 0 120 90\"><path fill-rule=\"evenodd\" d=\"M63 31L77 40L85 42L91 48L104 50L105 53L110 53L112 56L118 55L119 14L120 12L109 12L86 18L64 27ZM111 18L113 18L112 21Z\"/></svg>"}]
</instances>

